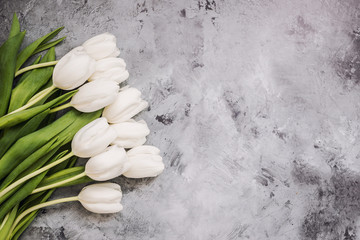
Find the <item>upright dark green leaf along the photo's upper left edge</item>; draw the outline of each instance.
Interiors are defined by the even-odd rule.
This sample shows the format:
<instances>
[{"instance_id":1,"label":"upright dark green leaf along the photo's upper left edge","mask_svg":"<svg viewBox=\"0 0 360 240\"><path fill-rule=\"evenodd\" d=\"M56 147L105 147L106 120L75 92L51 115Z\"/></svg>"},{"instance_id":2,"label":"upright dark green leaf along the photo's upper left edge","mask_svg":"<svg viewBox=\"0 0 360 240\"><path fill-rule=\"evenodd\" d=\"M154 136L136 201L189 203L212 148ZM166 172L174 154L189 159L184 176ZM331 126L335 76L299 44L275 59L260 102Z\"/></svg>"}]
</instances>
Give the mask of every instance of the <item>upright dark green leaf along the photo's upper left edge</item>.
<instances>
[{"instance_id":1,"label":"upright dark green leaf along the photo's upper left edge","mask_svg":"<svg viewBox=\"0 0 360 240\"><path fill-rule=\"evenodd\" d=\"M25 32L18 33L0 47L0 117L7 113L15 75L16 54L24 36Z\"/></svg>"}]
</instances>

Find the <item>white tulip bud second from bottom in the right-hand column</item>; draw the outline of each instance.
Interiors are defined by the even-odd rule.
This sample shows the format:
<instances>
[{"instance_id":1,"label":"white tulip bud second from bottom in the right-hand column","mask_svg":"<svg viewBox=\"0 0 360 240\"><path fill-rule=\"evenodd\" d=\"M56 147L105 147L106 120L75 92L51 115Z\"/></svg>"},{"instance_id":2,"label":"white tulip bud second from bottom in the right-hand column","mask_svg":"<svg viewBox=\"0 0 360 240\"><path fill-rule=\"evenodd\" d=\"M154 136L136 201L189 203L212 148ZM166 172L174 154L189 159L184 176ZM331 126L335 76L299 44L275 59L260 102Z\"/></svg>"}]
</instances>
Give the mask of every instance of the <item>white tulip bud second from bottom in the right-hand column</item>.
<instances>
[{"instance_id":1,"label":"white tulip bud second from bottom in the right-hand column","mask_svg":"<svg viewBox=\"0 0 360 240\"><path fill-rule=\"evenodd\" d=\"M133 148L143 145L150 130L144 120L136 122L130 119L126 122L110 125L117 134L117 138L111 143L123 148Z\"/></svg>"}]
</instances>

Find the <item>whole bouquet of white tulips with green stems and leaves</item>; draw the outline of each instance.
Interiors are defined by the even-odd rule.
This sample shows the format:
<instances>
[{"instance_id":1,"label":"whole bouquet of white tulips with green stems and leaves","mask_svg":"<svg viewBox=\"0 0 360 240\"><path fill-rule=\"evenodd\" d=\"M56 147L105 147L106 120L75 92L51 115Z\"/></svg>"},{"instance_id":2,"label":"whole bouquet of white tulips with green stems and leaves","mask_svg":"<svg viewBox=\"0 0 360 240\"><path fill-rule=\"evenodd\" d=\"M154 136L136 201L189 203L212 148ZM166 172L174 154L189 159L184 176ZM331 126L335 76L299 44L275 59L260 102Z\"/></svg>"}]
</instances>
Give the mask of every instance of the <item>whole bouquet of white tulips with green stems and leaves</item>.
<instances>
[{"instance_id":1,"label":"whole bouquet of white tulips with green stems and leaves","mask_svg":"<svg viewBox=\"0 0 360 240\"><path fill-rule=\"evenodd\" d=\"M38 210L53 204L79 201L94 213L123 208L114 183L48 201L56 188L164 169L160 150L143 145L146 122L133 119L148 103L123 86L129 72L115 36L95 36L56 61L54 47L64 38L52 39L61 30L19 51L25 32L14 15L0 47L0 240L18 239ZM89 160L76 166L78 157Z\"/></svg>"}]
</instances>

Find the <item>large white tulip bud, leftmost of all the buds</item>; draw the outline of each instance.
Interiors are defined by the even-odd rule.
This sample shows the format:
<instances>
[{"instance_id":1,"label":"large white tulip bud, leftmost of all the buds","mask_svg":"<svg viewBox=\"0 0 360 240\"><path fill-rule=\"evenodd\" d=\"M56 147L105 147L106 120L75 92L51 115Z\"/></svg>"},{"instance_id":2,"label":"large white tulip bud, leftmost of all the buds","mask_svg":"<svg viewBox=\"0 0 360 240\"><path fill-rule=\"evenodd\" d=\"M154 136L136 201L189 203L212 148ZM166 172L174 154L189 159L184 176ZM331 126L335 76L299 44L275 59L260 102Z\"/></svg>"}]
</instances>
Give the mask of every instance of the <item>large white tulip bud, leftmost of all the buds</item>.
<instances>
[{"instance_id":1,"label":"large white tulip bud, leftmost of all the buds","mask_svg":"<svg viewBox=\"0 0 360 240\"><path fill-rule=\"evenodd\" d=\"M54 86L63 90L79 87L95 72L95 64L83 47L74 48L55 65Z\"/></svg>"}]
</instances>

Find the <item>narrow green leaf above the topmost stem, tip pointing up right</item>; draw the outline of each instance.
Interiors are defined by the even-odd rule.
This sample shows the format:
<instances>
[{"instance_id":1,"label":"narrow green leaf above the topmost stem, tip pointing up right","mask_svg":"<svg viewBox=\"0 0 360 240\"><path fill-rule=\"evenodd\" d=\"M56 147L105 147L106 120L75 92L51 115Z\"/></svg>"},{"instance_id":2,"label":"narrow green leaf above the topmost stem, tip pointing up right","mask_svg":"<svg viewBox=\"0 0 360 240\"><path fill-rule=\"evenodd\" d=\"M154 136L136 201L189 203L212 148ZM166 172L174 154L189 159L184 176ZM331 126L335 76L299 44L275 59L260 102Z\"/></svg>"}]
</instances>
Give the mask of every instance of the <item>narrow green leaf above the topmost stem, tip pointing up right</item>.
<instances>
[{"instance_id":1,"label":"narrow green leaf above the topmost stem, tip pointing up right","mask_svg":"<svg viewBox=\"0 0 360 240\"><path fill-rule=\"evenodd\" d=\"M45 36L37 39L36 41L34 41L33 43L31 43L29 46L27 46L26 48L24 48L18 55L17 60L16 60L16 68L15 70L18 71L20 69L20 67L24 64L24 62L31 56L34 54L34 52L36 51L36 49L41 45L41 44L45 44L48 41L50 41L51 39L53 39L64 27L60 27L58 29L55 29L54 31L52 31L51 33L46 34Z\"/></svg>"}]
</instances>

